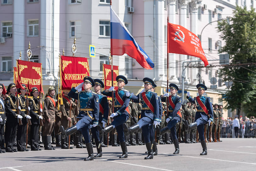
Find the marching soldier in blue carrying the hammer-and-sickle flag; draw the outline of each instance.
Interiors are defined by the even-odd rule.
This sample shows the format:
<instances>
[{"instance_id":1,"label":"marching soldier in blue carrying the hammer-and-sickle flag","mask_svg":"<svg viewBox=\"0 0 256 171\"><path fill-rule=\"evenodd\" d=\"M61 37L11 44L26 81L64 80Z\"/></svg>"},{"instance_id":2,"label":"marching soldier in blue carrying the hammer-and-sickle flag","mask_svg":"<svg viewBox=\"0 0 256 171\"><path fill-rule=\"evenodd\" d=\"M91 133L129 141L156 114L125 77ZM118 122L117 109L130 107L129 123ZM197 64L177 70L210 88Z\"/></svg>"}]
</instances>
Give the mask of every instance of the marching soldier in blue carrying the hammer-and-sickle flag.
<instances>
[{"instance_id":1,"label":"marching soldier in blue carrying the hammer-and-sickle flag","mask_svg":"<svg viewBox=\"0 0 256 171\"><path fill-rule=\"evenodd\" d=\"M179 90L179 87L176 84L170 83L170 93L171 93L171 100L172 102L169 101L169 93L164 93L161 96L161 100L164 102L169 102L169 107L168 107L168 118L166 119L167 126L158 130L157 129L157 136L160 136L164 133L171 131L171 136L173 139L174 147L175 147L175 152L173 154L179 154L180 153L180 148L179 148L179 141L177 138L177 133L176 133L176 124L181 120L181 114L180 113L180 108L181 108L181 97L176 94L176 92ZM173 103L173 104L171 104ZM174 106L173 106L174 105Z\"/></svg>"}]
</instances>

